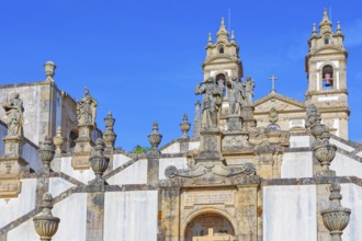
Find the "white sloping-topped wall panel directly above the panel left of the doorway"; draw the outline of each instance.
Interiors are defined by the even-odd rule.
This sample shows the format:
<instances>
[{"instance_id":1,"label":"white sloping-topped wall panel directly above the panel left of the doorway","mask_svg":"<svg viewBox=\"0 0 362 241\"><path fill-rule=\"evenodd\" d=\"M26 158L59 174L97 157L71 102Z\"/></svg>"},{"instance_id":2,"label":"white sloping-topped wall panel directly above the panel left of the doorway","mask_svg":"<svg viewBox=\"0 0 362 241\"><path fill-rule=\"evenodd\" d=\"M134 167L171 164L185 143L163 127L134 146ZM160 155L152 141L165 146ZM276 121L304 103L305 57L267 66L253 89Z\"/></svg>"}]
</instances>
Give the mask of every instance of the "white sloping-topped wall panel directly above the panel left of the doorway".
<instances>
[{"instance_id":1,"label":"white sloping-topped wall panel directly above the panel left of the doorway","mask_svg":"<svg viewBox=\"0 0 362 241\"><path fill-rule=\"evenodd\" d=\"M147 183L147 160L142 159L108 179L111 185L146 184Z\"/></svg>"}]
</instances>

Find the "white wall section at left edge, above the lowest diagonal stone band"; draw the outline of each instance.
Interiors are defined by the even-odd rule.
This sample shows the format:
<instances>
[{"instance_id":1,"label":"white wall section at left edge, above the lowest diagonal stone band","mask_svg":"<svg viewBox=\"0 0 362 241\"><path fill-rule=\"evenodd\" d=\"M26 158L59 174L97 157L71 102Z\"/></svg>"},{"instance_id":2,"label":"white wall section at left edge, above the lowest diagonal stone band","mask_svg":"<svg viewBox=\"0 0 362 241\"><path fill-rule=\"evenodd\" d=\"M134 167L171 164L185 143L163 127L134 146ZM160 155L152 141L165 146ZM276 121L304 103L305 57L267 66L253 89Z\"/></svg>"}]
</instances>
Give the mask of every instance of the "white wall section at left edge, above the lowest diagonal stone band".
<instances>
[{"instance_id":1,"label":"white wall section at left edge, above the lowest diagonal stone band","mask_svg":"<svg viewBox=\"0 0 362 241\"><path fill-rule=\"evenodd\" d=\"M0 199L0 228L35 208L36 180L21 180L21 193L8 202Z\"/></svg>"}]
</instances>

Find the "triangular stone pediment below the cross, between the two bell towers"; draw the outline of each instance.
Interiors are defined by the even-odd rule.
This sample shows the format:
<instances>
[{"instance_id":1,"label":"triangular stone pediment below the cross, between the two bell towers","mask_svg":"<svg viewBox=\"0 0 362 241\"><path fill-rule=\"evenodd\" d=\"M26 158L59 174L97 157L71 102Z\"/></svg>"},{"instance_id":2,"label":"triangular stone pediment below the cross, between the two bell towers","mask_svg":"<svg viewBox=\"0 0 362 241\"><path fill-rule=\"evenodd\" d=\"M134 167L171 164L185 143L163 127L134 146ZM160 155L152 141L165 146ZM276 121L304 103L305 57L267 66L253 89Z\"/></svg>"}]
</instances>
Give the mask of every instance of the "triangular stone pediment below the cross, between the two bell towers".
<instances>
[{"instance_id":1,"label":"triangular stone pediment below the cross, between the two bell towers","mask_svg":"<svg viewBox=\"0 0 362 241\"><path fill-rule=\"evenodd\" d=\"M274 107L281 112L305 112L305 104L301 101L284 96L282 94L268 94L254 102L256 113L265 113Z\"/></svg>"}]
</instances>

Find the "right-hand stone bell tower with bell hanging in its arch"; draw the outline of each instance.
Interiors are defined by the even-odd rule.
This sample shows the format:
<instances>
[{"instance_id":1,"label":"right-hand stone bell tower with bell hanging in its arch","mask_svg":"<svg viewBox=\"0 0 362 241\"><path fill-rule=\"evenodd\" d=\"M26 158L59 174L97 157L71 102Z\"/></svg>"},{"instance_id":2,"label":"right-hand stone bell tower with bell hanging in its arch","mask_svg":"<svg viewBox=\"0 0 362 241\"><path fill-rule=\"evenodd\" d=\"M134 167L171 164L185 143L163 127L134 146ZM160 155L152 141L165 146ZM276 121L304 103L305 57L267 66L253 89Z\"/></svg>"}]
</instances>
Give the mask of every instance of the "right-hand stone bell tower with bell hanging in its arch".
<instances>
[{"instance_id":1,"label":"right-hand stone bell tower with bell hanging in its arch","mask_svg":"<svg viewBox=\"0 0 362 241\"><path fill-rule=\"evenodd\" d=\"M343 39L340 22L333 32L325 9L319 33L314 24L308 39L309 50L305 59L308 78L306 104L315 104L321 113L324 124L329 126L331 133L348 139L348 51L343 46Z\"/></svg>"}]
</instances>

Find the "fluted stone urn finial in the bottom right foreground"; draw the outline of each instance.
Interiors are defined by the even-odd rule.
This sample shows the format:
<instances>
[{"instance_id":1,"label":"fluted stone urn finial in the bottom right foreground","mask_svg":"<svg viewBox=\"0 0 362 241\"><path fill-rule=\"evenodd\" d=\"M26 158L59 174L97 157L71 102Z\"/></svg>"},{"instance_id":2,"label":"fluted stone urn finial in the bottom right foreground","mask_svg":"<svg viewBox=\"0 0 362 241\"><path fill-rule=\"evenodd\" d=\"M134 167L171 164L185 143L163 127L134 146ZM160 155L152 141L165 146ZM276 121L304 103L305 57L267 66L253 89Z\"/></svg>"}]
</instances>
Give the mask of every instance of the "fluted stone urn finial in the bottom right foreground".
<instances>
[{"instance_id":1,"label":"fluted stone urn finial in the bottom right foreground","mask_svg":"<svg viewBox=\"0 0 362 241\"><path fill-rule=\"evenodd\" d=\"M332 241L342 241L343 229L350 221L351 209L344 208L341 205L342 195L341 186L339 183L330 185L330 205L329 208L321 210L323 221L329 230Z\"/></svg>"}]
</instances>

